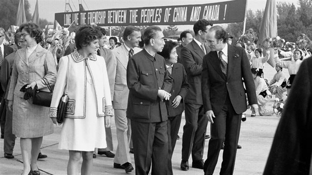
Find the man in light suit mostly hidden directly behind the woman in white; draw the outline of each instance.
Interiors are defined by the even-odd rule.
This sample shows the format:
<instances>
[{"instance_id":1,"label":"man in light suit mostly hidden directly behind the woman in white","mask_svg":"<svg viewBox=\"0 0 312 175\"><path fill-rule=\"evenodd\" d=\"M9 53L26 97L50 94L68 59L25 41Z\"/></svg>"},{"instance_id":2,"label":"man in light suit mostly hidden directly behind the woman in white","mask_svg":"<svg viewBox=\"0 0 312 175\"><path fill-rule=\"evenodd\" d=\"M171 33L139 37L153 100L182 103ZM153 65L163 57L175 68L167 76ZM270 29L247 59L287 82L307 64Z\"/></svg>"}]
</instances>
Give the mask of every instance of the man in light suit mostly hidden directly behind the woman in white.
<instances>
[{"instance_id":1,"label":"man in light suit mostly hidden directly behind the woman in white","mask_svg":"<svg viewBox=\"0 0 312 175\"><path fill-rule=\"evenodd\" d=\"M97 30L99 30L102 33L101 38L99 38L99 50L97 51L97 54L104 57L105 63L106 63L106 69L107 69L107 75L110 83L110 89L111 89L111 98L113 99L114 94L114 82L115 82L115 75L116 75L116 58L113 54L112 50L104 48L105 46L105 40L106 40L106 30L102 27L95 27ZM112 129L111 127L105 127L105 135L106 135L106 143L107 148L105 149L98 149L97 153L100 155L105 154L107 157L114 157L115 154L111 152L113 150L113 137L112 137Z\"/></svg>"}]
</instances>

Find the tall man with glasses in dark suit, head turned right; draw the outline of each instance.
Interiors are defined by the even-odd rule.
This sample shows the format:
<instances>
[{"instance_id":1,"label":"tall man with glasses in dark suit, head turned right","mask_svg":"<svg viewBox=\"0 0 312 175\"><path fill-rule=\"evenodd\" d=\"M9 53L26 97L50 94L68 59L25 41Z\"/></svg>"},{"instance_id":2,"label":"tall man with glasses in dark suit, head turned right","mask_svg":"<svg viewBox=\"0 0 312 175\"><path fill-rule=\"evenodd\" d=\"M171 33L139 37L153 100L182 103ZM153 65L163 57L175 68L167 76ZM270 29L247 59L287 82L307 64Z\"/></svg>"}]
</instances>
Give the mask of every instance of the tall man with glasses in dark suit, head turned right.
<instances>
[{"instance_id":1,"label":"tall man with glasses in dark suit, head turned right","mask_svg":"<svg viewBox=\"0 0 312 175\"><path fill-rule=\"evenodd\" d=\"M181 59L187 73L189 92L185 97L185 125L182 136L181 170L189 169L189 157L192 152L192 167L203 169L203 150L208 124L204 116L201 97L202 59L210 50L204 45L206 34L213 24L199 20L194 24L195 38L181 50Z\"/></svg>"}]
</instances>

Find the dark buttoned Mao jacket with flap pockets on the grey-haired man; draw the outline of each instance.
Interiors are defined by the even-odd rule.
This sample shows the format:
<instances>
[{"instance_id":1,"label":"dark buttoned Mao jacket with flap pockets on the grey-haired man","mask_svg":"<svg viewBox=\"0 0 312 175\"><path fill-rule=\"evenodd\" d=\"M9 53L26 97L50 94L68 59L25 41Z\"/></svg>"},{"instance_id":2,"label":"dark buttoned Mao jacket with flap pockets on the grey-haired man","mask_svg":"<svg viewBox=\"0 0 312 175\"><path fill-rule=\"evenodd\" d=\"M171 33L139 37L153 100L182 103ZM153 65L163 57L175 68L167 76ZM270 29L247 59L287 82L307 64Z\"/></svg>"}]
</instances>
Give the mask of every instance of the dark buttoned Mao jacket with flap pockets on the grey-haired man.
<instances>
[{"instance_id":1,"label":"dark buttoned Mao jacket with flap pockets on the grey-haired man","mask_svg":"<svg viewBox=\"0 0 312 175\"><path fill-rule=\"evenodd\" d=\"M127 117L143 123L167 121L166 103L157 94L159 89L170 92L172 82L164 57L153 57L145 49L133 55L127 66Z\"/></svg>"}]
</instances>

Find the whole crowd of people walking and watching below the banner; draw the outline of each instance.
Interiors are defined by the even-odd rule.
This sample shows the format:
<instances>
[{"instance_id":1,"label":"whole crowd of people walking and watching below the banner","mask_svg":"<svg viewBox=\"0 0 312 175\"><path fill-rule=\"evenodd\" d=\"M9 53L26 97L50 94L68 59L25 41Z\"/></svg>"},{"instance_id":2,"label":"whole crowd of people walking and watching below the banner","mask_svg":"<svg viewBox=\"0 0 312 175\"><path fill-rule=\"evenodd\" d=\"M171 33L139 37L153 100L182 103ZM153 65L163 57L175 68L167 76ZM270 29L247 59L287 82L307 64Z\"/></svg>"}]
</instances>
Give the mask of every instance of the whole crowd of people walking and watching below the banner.
<instances>
[{"instance_id":1,"label":"whole crowd of people walking and watching below the banner","mask_svg":"<svg viewBox=\"0 0 312 175\"><path fill-rule=\"evenodd\" d=\"M81 174L90 175L95 149L114 157L113 168L126 173L135 170L136 175L147 175L151 169L152 175L173 175L171 159L183 112L181 170L189 170L192 154L192 168L212 175L224 149L220 174L233 174L247 107L252 117L256 112L271 116L267 102L273 94L279 100L289 96L295 75L311 52L257 48L256 41L234 45L225 29L207 20L197 21L193 29L195 36L183 31L178 42L165 42L158 26L144 31L127 26L123 43L118 44L115 37L106 41L104 28L83 25L74 39L69 35L64 42L54 37L49 44L42 42L38 25L26 23L15 33L14 50L3 45L5 31L0 28L4 156L14 158L15 138L21 138L22 175L40 175L37 158L43 136L54 132L53 124L60 125L57 110L66 94L58 149L69 150L68 175L78 175L81 157ZM291 60L281 60L279 55ZM277 73L266 82L263 70L269 59L275 61ZM283 68L289 71L288 80ZM54 86L50 108L33 104L35 92L50 92L50 86ZM115 154L111 152L112 117L118 143Z\"/></svg>"}]
</instances>

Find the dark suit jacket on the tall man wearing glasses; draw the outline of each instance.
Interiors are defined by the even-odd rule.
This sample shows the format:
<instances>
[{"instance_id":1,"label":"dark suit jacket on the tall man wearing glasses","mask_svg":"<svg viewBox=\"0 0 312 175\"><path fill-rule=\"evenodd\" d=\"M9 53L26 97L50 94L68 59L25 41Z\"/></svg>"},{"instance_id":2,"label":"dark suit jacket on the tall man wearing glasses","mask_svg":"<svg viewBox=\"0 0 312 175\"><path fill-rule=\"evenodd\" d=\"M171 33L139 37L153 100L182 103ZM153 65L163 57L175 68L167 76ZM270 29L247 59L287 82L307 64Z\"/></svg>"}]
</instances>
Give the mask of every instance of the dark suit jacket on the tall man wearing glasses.
<instances>
[{"instance_id":1,"label":"dark suit jacket on the tall man wearing glasses","mask_svg":"<svg viewBox=\"0 0 312 175\"><path fill-rule=\"evenodd\" d=\"M210 49L206 48L206 53ZM181 50L181 59L187 73L187 80L190 84L189 92L185 98L186 103L202 104L201 97L201 71L202 59L205 53L193 40Z\"/></svg>"}]
</instances>

